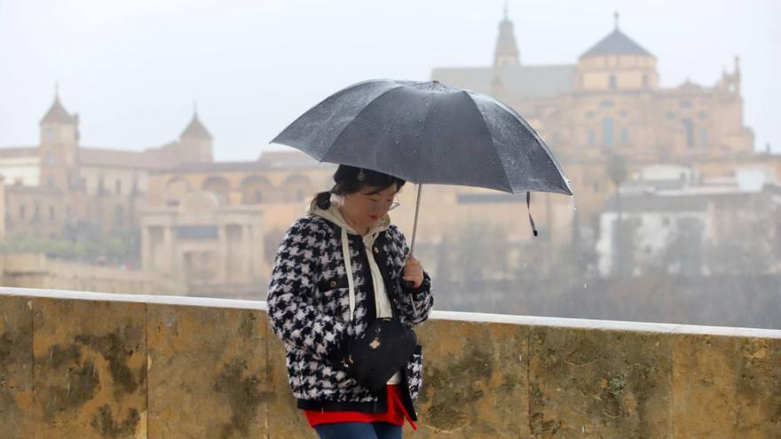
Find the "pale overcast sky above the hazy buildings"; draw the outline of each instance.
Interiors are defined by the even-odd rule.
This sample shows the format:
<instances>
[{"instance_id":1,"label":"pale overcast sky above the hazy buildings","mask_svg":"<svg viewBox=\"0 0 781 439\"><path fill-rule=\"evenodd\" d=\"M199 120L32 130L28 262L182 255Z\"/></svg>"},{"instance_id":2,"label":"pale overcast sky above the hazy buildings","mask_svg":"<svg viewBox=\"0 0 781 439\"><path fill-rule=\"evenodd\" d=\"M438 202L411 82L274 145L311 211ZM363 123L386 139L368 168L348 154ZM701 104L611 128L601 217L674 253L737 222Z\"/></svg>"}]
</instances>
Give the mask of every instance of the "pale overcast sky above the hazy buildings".
<instances>
[{"instance_id":1,"label":"pale overcast sky above the hazy buildings","mask_svg":"<svg viewBox=\"0 0 781 439\"><path fill-rule=\"evenodd\" d=\"M486 67L504 1L0 0L0 146L37 145L54 83L82 145L141 150L178 137L193 101L218 161L256 159L296 116L370 78ZM746 124L781 152L775 0L510 1L521 61L573 64L620 27L664 87L712 85L740 55Z\"/></svg>"}]
</instances>

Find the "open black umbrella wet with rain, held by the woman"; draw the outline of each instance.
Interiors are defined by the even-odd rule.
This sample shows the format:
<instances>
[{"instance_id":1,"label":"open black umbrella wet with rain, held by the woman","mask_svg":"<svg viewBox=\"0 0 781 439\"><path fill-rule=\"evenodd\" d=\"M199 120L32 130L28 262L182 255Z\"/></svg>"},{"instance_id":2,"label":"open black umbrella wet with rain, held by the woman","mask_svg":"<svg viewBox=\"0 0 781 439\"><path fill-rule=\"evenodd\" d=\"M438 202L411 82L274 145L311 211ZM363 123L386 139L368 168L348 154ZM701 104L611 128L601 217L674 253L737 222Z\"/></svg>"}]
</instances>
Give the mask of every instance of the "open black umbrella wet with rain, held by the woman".
<instances>
[{"instance_id":1,"label":"open black umbrella wet with rain, held by the woman","mask_svg":"<svg viewBox=\"0 0 781 439\"><path fill-rule=\"evenodd\" d=\"M527 203L530 191L572 195L548 145L520 114L437 81L351 85L302 114L272 143L418 184L412 248L421 184L527 192Z\"/></svg>"}]
</instances>

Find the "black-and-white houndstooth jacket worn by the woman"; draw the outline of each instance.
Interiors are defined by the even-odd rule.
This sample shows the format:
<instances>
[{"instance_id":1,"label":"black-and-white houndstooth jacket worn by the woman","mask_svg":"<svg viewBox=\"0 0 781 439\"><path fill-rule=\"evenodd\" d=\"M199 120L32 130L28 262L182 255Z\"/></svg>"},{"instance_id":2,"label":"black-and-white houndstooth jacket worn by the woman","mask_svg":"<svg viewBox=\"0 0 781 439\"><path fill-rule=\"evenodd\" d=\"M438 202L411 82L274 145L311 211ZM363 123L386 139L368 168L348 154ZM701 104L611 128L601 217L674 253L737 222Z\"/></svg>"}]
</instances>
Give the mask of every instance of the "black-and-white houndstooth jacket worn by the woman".
<instances>
[{"instance_id":1,"label":"black-and-white houndstooth jacket worn by the woman","mask_svg":"<svg viewBox=\"0 0 781 439\"><path fill-rule=\"evenodd\" d=\"M354 321L349 317L341 228L315 214L298 219L282 240L272 269L268 315L274 332L285 343L288 381L299 408L385 412L387 404L382 395L373 396L336 365L348 337L362 333L375 319L367 249L359 235L348 237ZM399 320L410 327L421 324L433 304L431 280L425 274L417 290L398 283L409 251L404 235L391 224L377 236L371 251L383 271L386 291ZM414 418L412 404L422 384L420 350L402 369L402 375L409 391L407 411Z\"/></svg>"}]
</instances>

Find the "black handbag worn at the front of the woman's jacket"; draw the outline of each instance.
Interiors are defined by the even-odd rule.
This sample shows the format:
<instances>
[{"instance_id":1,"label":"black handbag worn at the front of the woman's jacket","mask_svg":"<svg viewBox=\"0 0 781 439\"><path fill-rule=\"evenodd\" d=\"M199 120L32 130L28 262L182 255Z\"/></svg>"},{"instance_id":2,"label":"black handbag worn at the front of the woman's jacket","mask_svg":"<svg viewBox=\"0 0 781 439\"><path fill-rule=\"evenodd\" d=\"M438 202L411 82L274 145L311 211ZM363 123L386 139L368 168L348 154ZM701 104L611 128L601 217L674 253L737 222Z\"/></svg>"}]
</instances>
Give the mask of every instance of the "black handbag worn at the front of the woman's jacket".
<instances>
[{"instance_id":1,"label":"black handbag worn at the front of the woman's jacket","mask_svg":"<svg viewBox=\"0 0 781 439\"><path fill-rule=\"evenodd\" d=\"M376 395L406 365L416 347L414 331L398 318L377 318L349 342L343 365L353 380Z\"/></svg>"}]
</instances>

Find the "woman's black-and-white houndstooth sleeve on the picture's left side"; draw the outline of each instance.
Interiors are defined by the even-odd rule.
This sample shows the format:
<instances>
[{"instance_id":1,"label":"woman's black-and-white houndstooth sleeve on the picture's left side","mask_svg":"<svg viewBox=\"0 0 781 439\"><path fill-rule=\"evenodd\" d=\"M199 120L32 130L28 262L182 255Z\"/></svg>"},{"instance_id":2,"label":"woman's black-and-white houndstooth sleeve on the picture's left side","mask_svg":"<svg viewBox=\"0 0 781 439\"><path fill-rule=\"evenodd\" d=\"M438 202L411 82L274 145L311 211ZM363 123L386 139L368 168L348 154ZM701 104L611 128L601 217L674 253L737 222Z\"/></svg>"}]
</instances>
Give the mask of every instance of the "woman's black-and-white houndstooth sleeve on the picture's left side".
<instances>
[{"instance_id":1,"label":"woman's black-and-white houndstooth sleeve on the picture's left side","mask_svg":"<svg viewBox=\"0 0 781 439\"><path fill-rule=\"evenodd\" d=\"M342 344L345 325L313 304L319 238L311 219L299 219L282 239L266 299L274 333L282 341L319 356Z\"/></svg>"}]
</instances>

